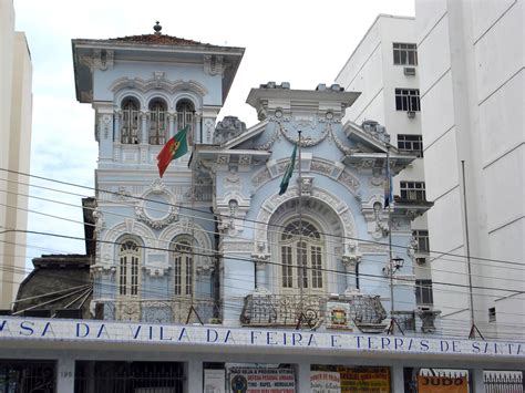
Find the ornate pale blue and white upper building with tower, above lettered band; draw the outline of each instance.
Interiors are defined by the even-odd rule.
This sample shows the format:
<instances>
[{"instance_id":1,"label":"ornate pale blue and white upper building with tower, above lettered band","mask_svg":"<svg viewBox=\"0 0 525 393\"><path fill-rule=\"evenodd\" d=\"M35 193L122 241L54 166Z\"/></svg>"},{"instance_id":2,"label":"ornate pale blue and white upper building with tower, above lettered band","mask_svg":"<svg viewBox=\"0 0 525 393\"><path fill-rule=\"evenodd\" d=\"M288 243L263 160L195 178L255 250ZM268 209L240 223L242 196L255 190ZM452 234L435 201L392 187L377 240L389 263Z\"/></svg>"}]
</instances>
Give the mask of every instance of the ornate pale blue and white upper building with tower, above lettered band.
<instances>
[{"instance_id":1,"label":"ornate pale blue and white upper building with tower, above lettered band","mask_svg":"<svg viewBox=\"0 0 525 393\"><path fill-rule=\"evenodd\" d=\"M100 146L93 314L379 332L392 283L414 330L410 221L428 206L394 206L390 255L388 135L341 124L359 93L270 82L248 95L258 124L217 122L244 49L157 30L73 40L78 99L95 110ZM191 154L161 179L156 156L185 125ZM392 147L392 173L412 159ZM392 282L391 257L404 261Z\"/></svg>"}]
</instances>

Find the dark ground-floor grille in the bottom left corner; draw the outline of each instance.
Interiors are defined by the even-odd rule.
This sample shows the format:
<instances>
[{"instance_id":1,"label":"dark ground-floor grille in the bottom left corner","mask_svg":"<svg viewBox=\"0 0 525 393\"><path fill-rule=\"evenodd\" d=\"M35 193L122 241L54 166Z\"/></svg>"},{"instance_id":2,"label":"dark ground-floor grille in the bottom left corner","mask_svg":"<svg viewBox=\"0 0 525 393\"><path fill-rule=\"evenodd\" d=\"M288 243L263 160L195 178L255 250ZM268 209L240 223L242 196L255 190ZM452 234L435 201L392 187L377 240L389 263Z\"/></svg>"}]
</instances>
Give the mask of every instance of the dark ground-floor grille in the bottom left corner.
<instances>
[{"instance_id":1,"label":"dark ground-floor grille in the bottom left corner","mask_svg":"<svg viewBox=\"0 0 525 393\"><path fill-rule=\"evenodd\" d=\"M55 365L53 361L0 361L0 392L53 393Z\"/></svg>"}]
</instances>

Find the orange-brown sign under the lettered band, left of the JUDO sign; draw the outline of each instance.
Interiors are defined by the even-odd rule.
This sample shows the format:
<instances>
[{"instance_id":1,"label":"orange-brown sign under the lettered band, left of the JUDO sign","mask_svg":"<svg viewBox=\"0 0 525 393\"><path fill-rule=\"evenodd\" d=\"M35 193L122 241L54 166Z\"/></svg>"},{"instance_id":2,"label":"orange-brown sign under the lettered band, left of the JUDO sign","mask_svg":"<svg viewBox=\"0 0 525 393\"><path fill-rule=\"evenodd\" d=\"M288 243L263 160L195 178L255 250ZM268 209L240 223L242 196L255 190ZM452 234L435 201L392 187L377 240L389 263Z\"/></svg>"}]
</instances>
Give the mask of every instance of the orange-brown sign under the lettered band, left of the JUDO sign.
<instances>
[{"instance_id":1,"label":"orange-brown sign under the lettered band, left of the JUDO sign","mask_svg":"<svg viewBox=\"0 0 525 393\"><path fill-rule=\"evenodd\" d=\"M389 368L338 368L341 393L390 393Z\"/></svg>"}]
</instances>

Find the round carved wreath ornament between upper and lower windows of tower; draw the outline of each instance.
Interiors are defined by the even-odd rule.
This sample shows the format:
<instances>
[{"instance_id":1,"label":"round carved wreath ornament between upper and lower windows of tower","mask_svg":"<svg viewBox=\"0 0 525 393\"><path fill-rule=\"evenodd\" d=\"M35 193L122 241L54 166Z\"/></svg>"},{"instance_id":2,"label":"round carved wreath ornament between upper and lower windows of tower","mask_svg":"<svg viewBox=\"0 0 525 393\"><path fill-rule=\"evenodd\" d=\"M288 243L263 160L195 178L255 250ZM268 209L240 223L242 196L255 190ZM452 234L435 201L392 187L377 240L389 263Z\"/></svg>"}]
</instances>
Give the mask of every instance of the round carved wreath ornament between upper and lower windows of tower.
<instances>
[{"instance_id":1,"label":"round carved wreath ornament between upper and lower windows of tower","mask_svg":"<svg viewBox=\"0 0 525 393\"><path fill-rule=\"evenodd\" d=\"M162 180L155 179L135 206L136 218L153 229L162 229L177 219L178 206L174 205L175 200Z\"/></svg>"}]
</instances>

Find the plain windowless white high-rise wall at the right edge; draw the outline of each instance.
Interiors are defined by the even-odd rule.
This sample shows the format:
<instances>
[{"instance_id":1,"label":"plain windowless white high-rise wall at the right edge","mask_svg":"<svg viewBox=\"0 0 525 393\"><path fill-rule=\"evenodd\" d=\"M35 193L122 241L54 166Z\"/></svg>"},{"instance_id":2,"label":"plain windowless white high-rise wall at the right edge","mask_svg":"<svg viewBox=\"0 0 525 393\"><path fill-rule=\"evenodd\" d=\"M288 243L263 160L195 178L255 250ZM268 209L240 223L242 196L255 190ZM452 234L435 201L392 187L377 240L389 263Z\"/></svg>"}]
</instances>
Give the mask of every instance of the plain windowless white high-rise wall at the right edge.
<instances>
[{"instance_id":1,"label":"plain windowless white high-rise wall at the right edge","mask_svg":"<svg viewBox=\"0 0 525 393\"><path fill-rule=\"evenodd\" d=\"M445 329L469 333L467 215L475 325L523 339L524 2L418 0L415 11L431 248L449 254L433 254L434 303Z\"/></svg>"}]
</instances>

